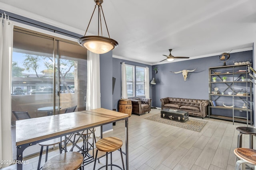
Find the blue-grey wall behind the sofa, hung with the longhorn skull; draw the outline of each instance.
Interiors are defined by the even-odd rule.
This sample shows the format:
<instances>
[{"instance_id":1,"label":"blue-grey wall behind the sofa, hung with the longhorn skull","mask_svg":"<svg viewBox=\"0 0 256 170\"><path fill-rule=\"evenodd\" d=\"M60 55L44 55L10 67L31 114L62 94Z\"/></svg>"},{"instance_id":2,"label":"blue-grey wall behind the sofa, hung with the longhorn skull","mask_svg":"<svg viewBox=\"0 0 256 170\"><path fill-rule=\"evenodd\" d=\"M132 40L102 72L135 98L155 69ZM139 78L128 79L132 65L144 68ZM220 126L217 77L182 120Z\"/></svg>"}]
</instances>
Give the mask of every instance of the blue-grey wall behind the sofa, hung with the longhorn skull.
<instances>
[{"instance_id":1,"label":"blue-grey wall behind the sofa, hung with the longhorn skull","mask_svg":"<svg viewBox=\"0 0 256 170\"><path fill-rule=\"evenodd\" d=\"M231 53L226 65L234 65L233 61L243 60L252 61L252 51ZM157 84L153 87L152 106L161 107L160 98L165 97L208 100L208 68L222 65L223 62L219 60L219 56L212 56L152 66L158 66L159 68L157 74L152 71L152 76L157 81ZM184 81L182 73L170 72L194 70L195 68L197 69L194 72L188 73L186 81Z\"/></svg>"}]
</instances>

